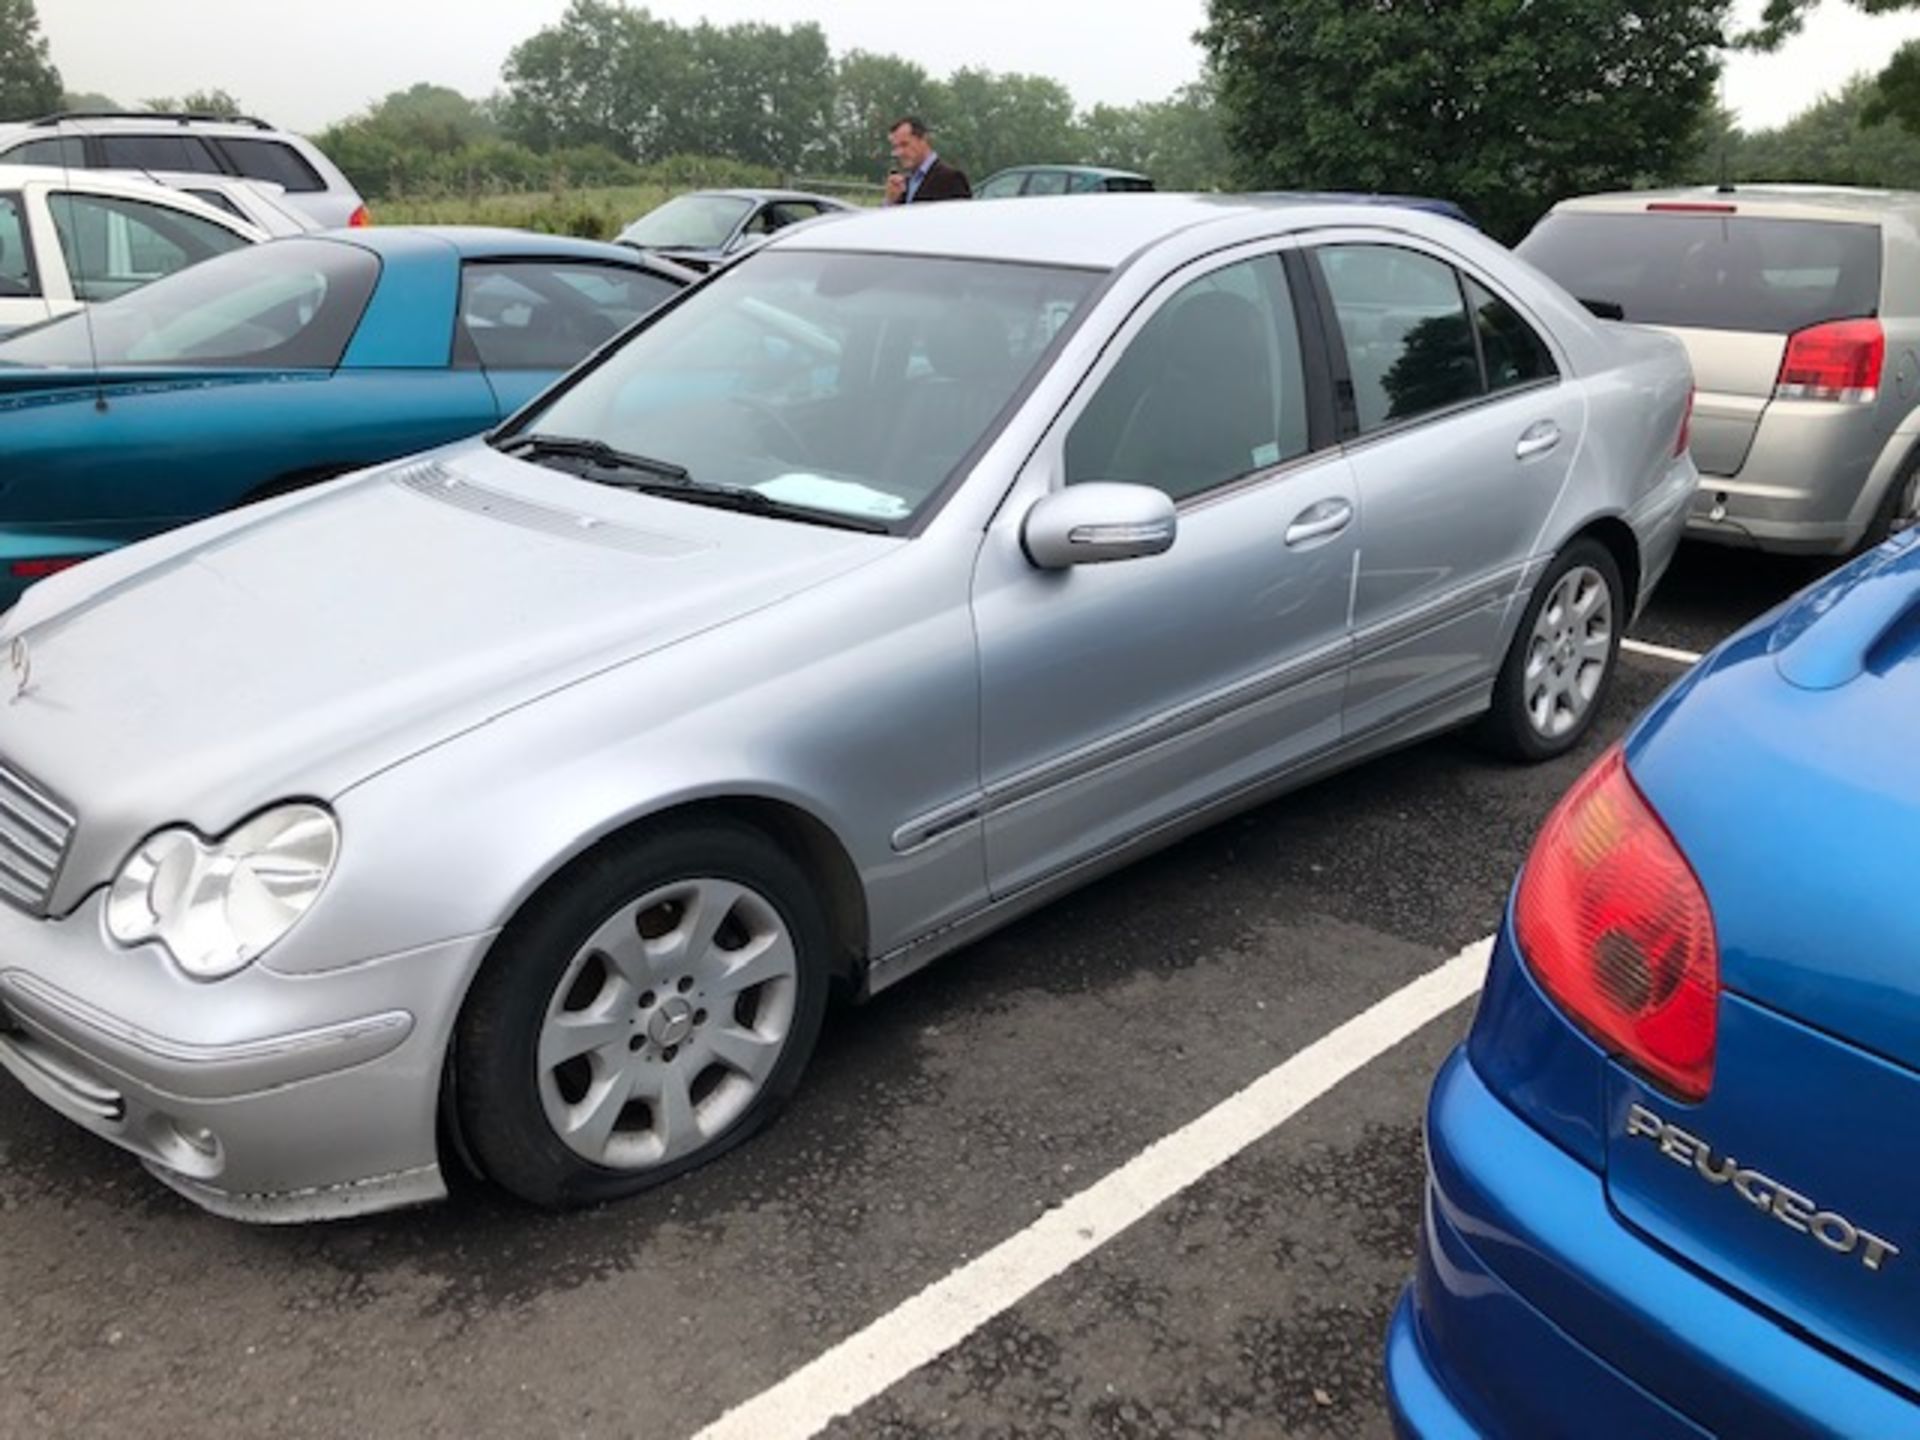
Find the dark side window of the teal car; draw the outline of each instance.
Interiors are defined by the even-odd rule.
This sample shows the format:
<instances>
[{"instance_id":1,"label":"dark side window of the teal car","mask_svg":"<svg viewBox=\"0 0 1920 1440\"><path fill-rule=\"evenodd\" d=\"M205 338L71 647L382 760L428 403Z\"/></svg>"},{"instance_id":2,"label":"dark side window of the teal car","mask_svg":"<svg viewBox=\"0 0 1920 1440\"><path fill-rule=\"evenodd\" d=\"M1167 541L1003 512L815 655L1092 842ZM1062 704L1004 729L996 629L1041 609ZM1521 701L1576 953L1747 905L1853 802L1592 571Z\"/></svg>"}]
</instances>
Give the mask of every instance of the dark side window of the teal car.
<instances>
[{"instance_id":1,"label":"dark side window of the teal car","mask_svg":"<svg viewBox=\"0 0 1920 1440\"><path fill-rule=\"evenodd\" d=\"M490 371L570 371L674 290L614 265L470 263L461 271L463 348Z\"/></svg>"}]
</instances>

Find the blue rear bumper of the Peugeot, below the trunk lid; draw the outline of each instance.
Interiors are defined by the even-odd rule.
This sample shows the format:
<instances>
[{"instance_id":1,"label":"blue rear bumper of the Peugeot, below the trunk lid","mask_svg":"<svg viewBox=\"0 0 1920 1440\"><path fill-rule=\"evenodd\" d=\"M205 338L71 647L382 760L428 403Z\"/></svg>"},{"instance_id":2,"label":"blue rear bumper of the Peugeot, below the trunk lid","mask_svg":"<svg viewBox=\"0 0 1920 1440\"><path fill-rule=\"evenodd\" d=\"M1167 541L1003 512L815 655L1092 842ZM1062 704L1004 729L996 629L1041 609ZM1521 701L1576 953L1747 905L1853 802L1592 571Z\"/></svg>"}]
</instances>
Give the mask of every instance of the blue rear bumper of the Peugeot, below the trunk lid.
<instances>
[{"instance_id":1,"label":"blue rear bumper of the Peugeot, below the trunk lid","mask_svg":"<svg viewBox=\"0 0 1920 1440\"><path fill-rule=\"evenodd\" d=\"M1920 1409L1613 1213L1455 1052L1434 1083L1419 1273L1394 1315L1402 1436L1893 1436Z\"/></svg>"}]
</instances>

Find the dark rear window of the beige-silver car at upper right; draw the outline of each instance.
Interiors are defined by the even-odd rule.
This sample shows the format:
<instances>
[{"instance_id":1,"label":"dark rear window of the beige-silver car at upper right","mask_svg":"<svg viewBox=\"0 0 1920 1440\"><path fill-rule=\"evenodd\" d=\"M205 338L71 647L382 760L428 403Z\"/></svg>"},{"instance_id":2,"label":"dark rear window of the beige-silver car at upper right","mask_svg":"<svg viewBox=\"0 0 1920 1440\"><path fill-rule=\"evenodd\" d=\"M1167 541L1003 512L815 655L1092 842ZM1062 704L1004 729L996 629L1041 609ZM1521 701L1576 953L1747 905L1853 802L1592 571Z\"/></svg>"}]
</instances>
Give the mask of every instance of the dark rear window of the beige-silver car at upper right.
<instances>
[{"instance_id":1,"label":"dark rear window of the beige-silver car at upper right","mask_svg":"<svg viewBox=\"0 0 1920 1440\"><path fill-rule=\"evenodd\" d=\"M1519 253L1640 324L1789 334L1880 305L1880 228L1740 215L1548 215Z\"/></svg>"}]
</instances>

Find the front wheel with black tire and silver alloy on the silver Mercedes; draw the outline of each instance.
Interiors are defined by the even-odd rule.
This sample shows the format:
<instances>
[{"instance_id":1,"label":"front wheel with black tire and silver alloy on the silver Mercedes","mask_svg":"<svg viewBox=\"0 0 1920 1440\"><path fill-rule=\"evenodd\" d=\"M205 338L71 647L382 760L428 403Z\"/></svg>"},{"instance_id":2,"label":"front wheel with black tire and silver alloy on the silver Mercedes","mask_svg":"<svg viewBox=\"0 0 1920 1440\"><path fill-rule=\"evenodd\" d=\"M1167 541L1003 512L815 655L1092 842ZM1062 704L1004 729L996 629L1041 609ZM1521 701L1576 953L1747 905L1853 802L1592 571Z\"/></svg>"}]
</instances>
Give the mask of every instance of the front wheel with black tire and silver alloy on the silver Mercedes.
<instances>
[{"instance_id":1,"label":"front wheel with black tire and silver alloy on the silver Mercedes","mask_svg":"<svg viewBox=\"0 0 1920 1440\"><path fill-rule=\"evenodd\" d=\"M467 1148L549 1210L714 1160L799 1085L828 956L806 874L755 829L645 829L591 852L501 933L461 1010Z\"/></svg>"}]
</instances>

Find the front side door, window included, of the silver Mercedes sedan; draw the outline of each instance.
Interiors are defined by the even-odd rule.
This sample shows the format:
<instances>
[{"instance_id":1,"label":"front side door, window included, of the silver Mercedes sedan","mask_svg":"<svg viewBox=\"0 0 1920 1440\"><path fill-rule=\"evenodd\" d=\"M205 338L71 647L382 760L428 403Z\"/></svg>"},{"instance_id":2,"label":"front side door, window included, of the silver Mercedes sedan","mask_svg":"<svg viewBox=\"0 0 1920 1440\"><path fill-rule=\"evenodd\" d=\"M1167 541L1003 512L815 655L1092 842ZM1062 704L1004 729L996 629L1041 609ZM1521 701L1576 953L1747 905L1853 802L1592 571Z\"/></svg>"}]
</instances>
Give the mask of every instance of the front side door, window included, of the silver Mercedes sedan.
<instances>
[{"instance_id":1,"label":"front side door, window included, of the silver Mercedes sedan","mask_svg":"<svg viewBox=\"0 0 1920 1440\"><path fill-rule=\"evenodd\" d=\"M1171 276L989 530L973 614L995 895L1338 741L1357 503L1296 313L1271 246ZM1025 513L1085 482L1167 492L1173 549L1035 568Z\"/></svg>"}]
</instances>

